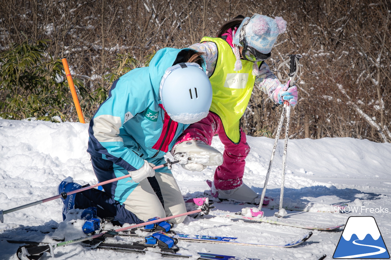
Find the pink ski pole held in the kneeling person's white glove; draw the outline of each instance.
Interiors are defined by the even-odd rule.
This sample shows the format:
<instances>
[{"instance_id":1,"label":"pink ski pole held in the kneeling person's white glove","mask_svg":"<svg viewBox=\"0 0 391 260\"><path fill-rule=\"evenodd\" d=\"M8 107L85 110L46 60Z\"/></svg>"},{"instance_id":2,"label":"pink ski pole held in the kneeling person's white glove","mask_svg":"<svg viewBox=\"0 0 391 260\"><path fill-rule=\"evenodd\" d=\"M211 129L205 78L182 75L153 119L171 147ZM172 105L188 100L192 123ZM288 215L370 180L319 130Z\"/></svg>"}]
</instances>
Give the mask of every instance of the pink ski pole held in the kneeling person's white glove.
<instances>
[{"instance_id":1,"label":"pink ski pole held in the kneeling person's white glove","mask_svg":"<svg viewBox=\"0 0 391 260\"><path fill-rule=\"evenodd\" d=\"M162 167L169 167L169 169L171 169L171 165L172 164L176 164L178 163L179 160L177 161L174 161L174 162L171 162L169 159L167 159L167 162L165 164L161 164L159 166L156 166L156 167L153 167L154 170L156 169L159 169L159 168L162 168ZM86 191L88 189L92 189L92 188L95 188L95 187L98 187L98 186L102 186L102 185L105 185L105 184L108 184L108 183L111 183L111 182L116 182L117 180L122 180L124 178L128 178L130 177L130 174L128 175L124 175L124 176L121 176L121 177L118 177L118 178L114 178L114 179L111 179L111 180L107 180L105 182L99 182L95 185L92 185L92 186L87 186L87 187L84 187L84 188L81 188L81 189L77 189L77 190L74 190L74 191L70 191L70 192L63 192L59 195L56 195L56 196L53 196L53 197L50 197L50 198L46 198L46 199L42 199L42 200L38 200L38 201L35 201L35 202L32 202L32 203L29 203L29 204L26 204L26 205L22 205L22 206L19 206L19 207L16 207L16 208L11 208L9 210L0 210L0 222L1 223L4 223L4 214L7 214L7 213L10 213L10 212L14 212L14 211L17 211L17 210L21 210L23 208L28 208L28 207L31 207L31 206L34 206L34 205L38 205L38 204L41 204L41 203L44 203L44 202L48 202L48 201L52 201L54 199L59 199L59 198L66 198L66 196L69 196L69 195L72 195L74 193L77 193L77 192L81 192L81 191Z\"/></svg>"}]
</instances>

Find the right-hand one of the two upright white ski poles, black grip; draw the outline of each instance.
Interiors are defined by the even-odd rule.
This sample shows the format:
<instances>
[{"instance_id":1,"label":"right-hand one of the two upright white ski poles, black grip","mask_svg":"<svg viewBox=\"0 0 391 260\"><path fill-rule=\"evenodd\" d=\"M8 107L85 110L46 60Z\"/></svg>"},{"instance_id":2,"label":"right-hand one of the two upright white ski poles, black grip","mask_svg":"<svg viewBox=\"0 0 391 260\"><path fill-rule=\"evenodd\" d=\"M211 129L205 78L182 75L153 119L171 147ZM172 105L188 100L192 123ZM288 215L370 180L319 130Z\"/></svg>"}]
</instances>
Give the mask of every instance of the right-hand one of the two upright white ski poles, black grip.
<instances>
[{"instance_id":1,"label":"right-hand one of the two upright white ski poles, black grip","mask_svg":"<svg viewBox=\"0 0 391 260\"><path fill-rule=\"evenodd\" d=\"M293 80L297 75L298 67L296 66L296 63L299 62L299 59L301 58L300 54L297 55L289 55L289 61L290 61L290 69L289 69L289 87L293 85ZM288 61L288 60L287 60ZM299 67L300 68L300 67ZM279 75L280 77L281 75ZM300 75L299 75L300 77ZM297 81L297 80L296 80ZM282 213L282 203L284 198L284 187L285 187L285 166L287 164L287 148L288 148L288 133L289 133L289 122L291 118L291 105L289 104L289 101L284 102L284 108L287 110L286 114L286 124L285 124L285 143L284 143L284 153L282 156L282 174L281 174L281 191L280 191L280 207L278 212L274 213L277 217L284 217L284 214Z\"/></svg>"}]
</instances>

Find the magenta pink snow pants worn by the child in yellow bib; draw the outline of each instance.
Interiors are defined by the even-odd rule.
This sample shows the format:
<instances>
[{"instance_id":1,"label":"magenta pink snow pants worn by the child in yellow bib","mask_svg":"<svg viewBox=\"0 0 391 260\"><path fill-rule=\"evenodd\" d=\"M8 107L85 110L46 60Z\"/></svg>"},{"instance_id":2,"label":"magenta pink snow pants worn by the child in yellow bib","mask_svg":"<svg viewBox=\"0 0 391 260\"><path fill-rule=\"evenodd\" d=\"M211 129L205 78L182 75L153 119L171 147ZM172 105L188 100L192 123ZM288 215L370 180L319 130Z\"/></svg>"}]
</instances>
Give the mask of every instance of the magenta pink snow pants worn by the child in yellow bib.
<instances>
[{"instance_id":1,"label":"magenta pink snow pants worn by the child in yellow bib","mask_svg":"<svg viewBox=\"0 0 391 260\"><path fill-rule=\"evenodd\" d=\"M218 190L231 190L242 185L245 159L250 151L246 134L240 128L240 141L233 143L225 134L221 119L213 112L197 123L191 124L177 139L176 144L189 140L200 140L206 144L212 143L212 137L218 134L224 144L224 162L215 171L214 185Z\"/></svg>"}]
</instances>

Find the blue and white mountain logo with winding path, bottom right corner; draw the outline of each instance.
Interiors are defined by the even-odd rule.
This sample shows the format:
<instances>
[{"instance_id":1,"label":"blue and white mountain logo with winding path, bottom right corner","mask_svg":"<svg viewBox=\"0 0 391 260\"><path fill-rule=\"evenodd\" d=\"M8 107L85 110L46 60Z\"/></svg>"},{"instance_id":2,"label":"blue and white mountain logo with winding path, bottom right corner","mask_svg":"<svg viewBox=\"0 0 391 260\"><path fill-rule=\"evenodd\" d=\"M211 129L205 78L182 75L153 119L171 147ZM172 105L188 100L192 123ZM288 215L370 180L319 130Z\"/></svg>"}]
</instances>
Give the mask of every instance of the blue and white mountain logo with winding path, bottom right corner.
<instances>
[{"instance_id":1,"label":"blue and white mountain logo with winding path, bottom right corner","mask_svg":"<svg viewBox=\"0 0 391 260\"><path fill-rule=\"evenodd\" d=\"M374 217L349 217L333 258L389 259Z\"/></svg>"}]
</instances>

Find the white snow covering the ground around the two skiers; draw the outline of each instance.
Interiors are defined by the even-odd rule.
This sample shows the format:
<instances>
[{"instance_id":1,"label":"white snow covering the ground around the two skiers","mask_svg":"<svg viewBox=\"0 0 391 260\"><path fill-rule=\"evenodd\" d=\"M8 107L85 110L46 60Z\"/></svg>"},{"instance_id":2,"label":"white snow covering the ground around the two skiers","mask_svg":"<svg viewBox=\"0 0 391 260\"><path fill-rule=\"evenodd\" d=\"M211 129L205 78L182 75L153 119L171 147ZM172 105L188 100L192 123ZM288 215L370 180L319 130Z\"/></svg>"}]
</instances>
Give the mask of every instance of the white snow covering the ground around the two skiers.
<instances>
[{"instance_id":1,"label":"white snow covering the ground around the two skiers","mask_svg":"<svg viewBox=\"0 0 391 260\"><path fill-rule=\"evenodd\" d=\"M81 123L50 123L44 121L0 120L0 209L7 210L57 195L61 180L71 176L82 185L97 183L87 149L88 125ZM244 182L261 193L274 139L248 137L251 152L246 160ZM215 148L222 151L218 137ZM349 203L347 213L310 212L311 221L335 220L346 223L349 216L373 216L386 246L391 248L391 144L380 144L352 138L289 140L284 201L297 203ZM283 140L279 141L266 196L279 201ZM170 157L171 158L171 157ZM203 172L190 172L174 165L172 170L185 198L203 196L208 190L205 180L213 178L214 167ZM15 229L33 227L47 230L62 221L61 199L4 215L1 237L25 236L26 239L54 242L34 232ZM303 219L309 215L300 213ZM300 214L297 216L300 218ZM307 216L307 217L306 217ZM70 228L79 228L74 225ZM14 229L14 230L13 230ZM301 228L267 223L251 223L225 217L206 216L179 224L176 231L201 235L238 237L240 242L283 244L308 232ZM50 231L50 228L49 228ZM77 232L80 232L78 230ZM77 233L75 232L75 233ZM72 233L72 232L71 232ZM259 259L317 259L327 254L331 259L342 229L314 231L312 237L295 248L255 248L179 242L192 251L235 255ZM78 238L78 237L73 237ZM0 259L17 259L20 244L0 240ZM55 249L56 259L160 259L156 253L129 255L113 251L89 250L81 244ZM186 252L183 252L186 253ZM41 259L50 259L44 255ZM245 259L245 258L243 258Z\"/></svg>"}]
</instances>

